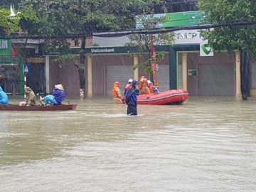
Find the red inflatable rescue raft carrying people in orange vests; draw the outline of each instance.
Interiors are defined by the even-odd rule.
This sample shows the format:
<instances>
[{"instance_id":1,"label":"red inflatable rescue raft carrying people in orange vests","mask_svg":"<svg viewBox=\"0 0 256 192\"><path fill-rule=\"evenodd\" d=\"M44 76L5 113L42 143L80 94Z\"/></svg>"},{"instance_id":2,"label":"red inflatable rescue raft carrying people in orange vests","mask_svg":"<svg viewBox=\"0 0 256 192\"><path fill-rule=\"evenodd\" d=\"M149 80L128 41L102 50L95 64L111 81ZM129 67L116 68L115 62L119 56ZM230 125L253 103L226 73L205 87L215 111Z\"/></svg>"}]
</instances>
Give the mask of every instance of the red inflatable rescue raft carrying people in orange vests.
<instances>
[{"instance_id":1,"label":"red inflatable rescue raft carrying people in orange vests","mask_svg":"<svg viewBox=\"0 0 256 192\"><path fill-rule=\"evenodd\" d=\"M140 105L168 105L181 104L188 99L186 90L168 90L159 94L138 95L137 103Z\"/></svg>"}]
</instances>

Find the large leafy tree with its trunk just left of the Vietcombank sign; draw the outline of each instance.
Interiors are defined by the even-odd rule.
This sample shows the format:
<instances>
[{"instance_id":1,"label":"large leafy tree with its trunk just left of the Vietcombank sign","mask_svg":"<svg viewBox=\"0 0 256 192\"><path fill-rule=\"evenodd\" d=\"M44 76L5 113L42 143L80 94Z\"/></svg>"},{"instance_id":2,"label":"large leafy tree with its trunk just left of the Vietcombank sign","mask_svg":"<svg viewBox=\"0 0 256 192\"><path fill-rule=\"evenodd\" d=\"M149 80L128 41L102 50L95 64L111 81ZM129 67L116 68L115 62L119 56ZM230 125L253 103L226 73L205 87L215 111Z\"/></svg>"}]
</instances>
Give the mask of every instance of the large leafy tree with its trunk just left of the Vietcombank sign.
<instances>
[{"instance_id":1,"label":"large leafy tree with its trunk just left of the Vietcombank sign","mask_svg":"<svg viewBox=\"0 0 256 192\"><path fill-rule=\"evenodd\" d=\"M60 55L68 53L69 45L61 36L80 34L80 87L85 88L85 42L93 32L116 31L134 26L134 17L148 11L150 5L160 0L21 0L23 6L31 5L41 18L40 22L28 25L31 33L49 38L46 48ZM74 38L77 41L77 38Z\"/></svg>"}]
</instances>

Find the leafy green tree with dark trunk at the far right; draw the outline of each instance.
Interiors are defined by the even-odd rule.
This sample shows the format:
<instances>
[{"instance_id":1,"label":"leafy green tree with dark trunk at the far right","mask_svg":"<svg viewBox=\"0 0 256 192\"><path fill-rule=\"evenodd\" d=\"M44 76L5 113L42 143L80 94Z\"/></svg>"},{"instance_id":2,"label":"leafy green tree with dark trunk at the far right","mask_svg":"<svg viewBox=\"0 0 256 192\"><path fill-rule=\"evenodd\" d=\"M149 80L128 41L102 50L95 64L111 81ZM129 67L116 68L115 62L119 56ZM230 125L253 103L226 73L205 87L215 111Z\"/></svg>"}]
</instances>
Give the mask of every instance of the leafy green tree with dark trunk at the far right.
<instances>
[{"instance_id":1,"label":"leafy green tree with dark trunk at the far right","mask_svg":"<svg viewBox=\"0 0 256 192\"><path fill-rule=\"evenodd\" d=\"M242 99L250 95L250 55L256 53L256 26L233 26L245 21L250 24L256 20L256 4L251 0L199 0L199 9L206 11L206 21L223 27L203 31L215 50L240 50Z\"/></svg>"}]
</instances>

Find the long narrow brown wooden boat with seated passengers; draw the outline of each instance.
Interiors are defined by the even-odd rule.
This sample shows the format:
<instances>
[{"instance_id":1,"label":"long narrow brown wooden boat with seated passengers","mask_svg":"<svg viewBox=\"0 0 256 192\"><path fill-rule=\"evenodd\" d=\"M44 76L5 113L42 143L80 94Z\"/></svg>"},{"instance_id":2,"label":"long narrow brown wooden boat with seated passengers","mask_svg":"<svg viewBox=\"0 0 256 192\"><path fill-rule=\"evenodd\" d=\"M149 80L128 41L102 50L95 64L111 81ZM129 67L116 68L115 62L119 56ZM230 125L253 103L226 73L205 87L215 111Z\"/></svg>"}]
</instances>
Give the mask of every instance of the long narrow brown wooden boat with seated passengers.
<instances>
[{"instance_id":1,"label":"long narrow brown wooden boat with seated passengers","mask_svg":"<svg viewBox=\"0 0 256 192\"><path fill-rule=\"evenodd\" d=\"M19 106L19 105L0 105L3 111L60 111L75 110L77 105L36 105L36 106Z\"/></svg>"}]
</instances>

